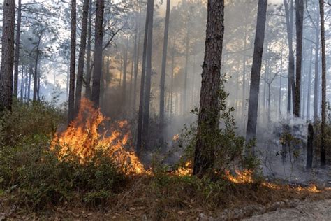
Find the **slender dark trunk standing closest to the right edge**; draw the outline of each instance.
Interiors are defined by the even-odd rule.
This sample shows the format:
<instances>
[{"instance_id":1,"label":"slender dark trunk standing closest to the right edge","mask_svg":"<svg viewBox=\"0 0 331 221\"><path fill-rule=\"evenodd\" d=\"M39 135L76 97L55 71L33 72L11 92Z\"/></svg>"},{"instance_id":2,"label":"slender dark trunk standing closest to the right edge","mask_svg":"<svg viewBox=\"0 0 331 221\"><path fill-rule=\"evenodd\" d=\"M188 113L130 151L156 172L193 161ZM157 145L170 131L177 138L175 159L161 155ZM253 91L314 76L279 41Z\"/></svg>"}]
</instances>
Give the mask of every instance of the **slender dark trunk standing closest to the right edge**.
<instances>
[{"instance_id":1,"label":"slender dark trunk standing closest to the right edge","mask_svg":"<svg viewBox=\"0 0 331 221\"><path fill-rule=\"evenodd\" d=\"M326 60L325 60L325 28L324 28L324 1L320 2L321 17L321 52L322 52L322 122L321 122L321 166L326 164L325 124L326 124Z\"/></svg>"}]
</instances>

